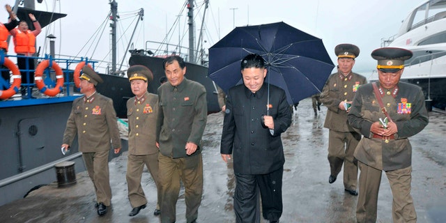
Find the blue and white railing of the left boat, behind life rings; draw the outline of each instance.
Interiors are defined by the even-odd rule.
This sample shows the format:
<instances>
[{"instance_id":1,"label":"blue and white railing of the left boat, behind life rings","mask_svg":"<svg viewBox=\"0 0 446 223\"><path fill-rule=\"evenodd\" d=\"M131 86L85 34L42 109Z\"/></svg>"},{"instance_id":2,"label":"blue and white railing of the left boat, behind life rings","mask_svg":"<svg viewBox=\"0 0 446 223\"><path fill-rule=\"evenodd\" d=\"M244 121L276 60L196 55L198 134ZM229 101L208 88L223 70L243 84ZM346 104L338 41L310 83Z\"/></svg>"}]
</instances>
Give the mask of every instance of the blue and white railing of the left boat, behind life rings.
<instances>
[{"instance_id":1,"label":"blue and white railing of the left boat, behind life rings","mask_svg":"<svg viewBox=\"0 0 446 223\"><path fill-rule=\"evenodd\" d=\"M17 61L17 58L24 57L19 55L8 55L0 52L0 63L3 64L4 58L8 58L11 61ZM65 102L69 100L74 100L77 98L80 93L77 91L77 87L75 86L75 82L73 79L73 74L75 71L75 66L77 66L81 62L86 62L89 65L95 68L95 63L97 61L90 61L88 58L81 59L72 59L72 58L53 58L49 56L49 54L45 54L43 57L39 56L27 56L34 60L36 64L34 69L30 69L29 61L26 60L26 68L20 69L20 75L26 76L27 83L21 83L20 87L15 89L15 95L10 98L3 98L0 100L0 107L15 107L15 106L24 106L24 105L38 105L38 104L46 104L51 102ZM36 86L36 82L30 83L31 75L34 75L38 65L43 61L49 61L49 68L45 68L42 74L42 80L45 84L43 89L38 89ZM62 70L63 73L63 86L61 86L61 91L54 96L45 95L45 89L53 89L56 86L57 77L56 72L53 68L50 68L53 64L57 63ZM15 65L17 66L17 64ZM17 66L18 68L18 66ZM3 75L0 75L0 91L8 90L13 84L13 76L12 72L4 67L0 66L0 72L9 72L10 78L4 79Z\"/></svg>"}]
</instances>

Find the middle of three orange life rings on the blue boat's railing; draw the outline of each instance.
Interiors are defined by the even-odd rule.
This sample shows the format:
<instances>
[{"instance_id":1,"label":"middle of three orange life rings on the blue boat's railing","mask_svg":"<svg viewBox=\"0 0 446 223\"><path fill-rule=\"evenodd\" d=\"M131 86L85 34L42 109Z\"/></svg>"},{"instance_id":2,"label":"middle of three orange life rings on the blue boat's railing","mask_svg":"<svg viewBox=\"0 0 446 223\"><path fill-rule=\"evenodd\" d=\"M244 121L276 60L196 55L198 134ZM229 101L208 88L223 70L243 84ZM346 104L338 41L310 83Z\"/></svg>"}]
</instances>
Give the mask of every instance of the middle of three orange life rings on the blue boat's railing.
<instances>
[{"instance_id":1,"label":"middle of three orange life rings on the blue boat's railing","mask_svg":"<svg viewBox=\"0 0 446 223\"><path fill-rule=\"evenodd\" d=\"M59 92L62 90L63 86L63 72L62 69L57 65L56 62L52 61L51 68L54 69L56 72L56 86L54 86L54 89L49 89L47 86L45 86L45 83L43 82L43 71L45 71L46 68L49 68L49 60L45 60L39 63L39 65L36 68L36 72L34 72L34 81L36 82L36 86L39 89L40 92L45 93L45 95L48 96L56 96Z\"/></svg>"}]
</instances>

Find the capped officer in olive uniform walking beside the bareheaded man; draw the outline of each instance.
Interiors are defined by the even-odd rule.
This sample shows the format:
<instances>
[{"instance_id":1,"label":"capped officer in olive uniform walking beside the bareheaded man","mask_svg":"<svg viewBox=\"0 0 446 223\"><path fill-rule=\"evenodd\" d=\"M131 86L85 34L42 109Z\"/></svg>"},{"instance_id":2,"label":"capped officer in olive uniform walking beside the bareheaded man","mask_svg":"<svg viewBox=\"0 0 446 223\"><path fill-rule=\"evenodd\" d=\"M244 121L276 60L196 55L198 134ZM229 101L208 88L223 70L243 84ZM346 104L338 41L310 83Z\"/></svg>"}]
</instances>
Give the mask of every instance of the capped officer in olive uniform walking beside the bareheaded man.
<instances>
[{"instance_id":1,"label":"capped officer in olive uniform walking beside the bareheaded man","mask_svg":"<svg viewBox=\"0 0 446 223\"><path fill-rule=\"evenodd\" d=\"M147 199L141 186L144 164L151 173L155 185L158 183L158 148L156 147L156 118L158 115L158 96L147 92L148 82L153 81L151 70L135 65L127 70L133 98L127 101L128 117L128 161L127 179L128 199L132 205L130 216L137 215L146 208ZM158 191L158 190L157 190ZM157 193L158 201L160 194ZM160 215L157 203L154 215Z\"/></svg>"}]
</instances>

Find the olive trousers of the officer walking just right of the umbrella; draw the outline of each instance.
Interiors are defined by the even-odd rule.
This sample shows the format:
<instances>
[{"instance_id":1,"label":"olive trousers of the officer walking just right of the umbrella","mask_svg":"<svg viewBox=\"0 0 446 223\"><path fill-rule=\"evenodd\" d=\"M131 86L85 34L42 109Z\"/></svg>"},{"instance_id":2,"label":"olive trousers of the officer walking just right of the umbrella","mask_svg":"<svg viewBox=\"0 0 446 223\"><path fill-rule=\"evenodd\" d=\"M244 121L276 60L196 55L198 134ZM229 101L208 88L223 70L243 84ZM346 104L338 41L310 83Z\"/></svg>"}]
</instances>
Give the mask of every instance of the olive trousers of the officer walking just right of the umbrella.
<instances>
[{"instance_id":1,"label":"olive trousers of the officer walking just right of the umbrella","mask_svg":"<svg viewBox=\"0 0 446 223\"><path fill-rule=\"evenodd\" d=\"M330 174L337 176L344 163L344 188L348 190L356 190L357 186L357 160L353 153L355 153L355 148L360 139L361 134L357 132L330 130L328 133Z\"/></svg>"}]
</instances>

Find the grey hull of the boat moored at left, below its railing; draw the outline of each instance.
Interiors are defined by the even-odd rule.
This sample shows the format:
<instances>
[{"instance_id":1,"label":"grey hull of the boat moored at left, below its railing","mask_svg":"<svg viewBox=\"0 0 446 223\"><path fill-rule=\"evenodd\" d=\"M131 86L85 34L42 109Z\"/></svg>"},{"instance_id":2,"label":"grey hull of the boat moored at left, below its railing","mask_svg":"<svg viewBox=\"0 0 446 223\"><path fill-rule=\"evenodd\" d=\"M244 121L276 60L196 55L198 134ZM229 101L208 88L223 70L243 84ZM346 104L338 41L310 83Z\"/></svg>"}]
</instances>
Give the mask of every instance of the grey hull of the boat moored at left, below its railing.
<instances>
[{"instance_id":1,"label":"grey hull of the boat moored at left, below its railing","mask_svg":"<svg viewBox=\"0 0 446 223\"><path fill-rule=\"evenodd\" d=\"M24 197L39 185L54 182L54 164L58 162L71 160L75 171L85 170L77 139L69 154L61 153L63 132L75 98L64 102L57 98L29 99L15 101L17 105L23 101L28 105L0 107L0 206ZM0 103L3 106L10 102ZM122 153L128 150L128 142L121 143ZM111 149L109 158L120 154L113 154Z\"/></svg>"}]
</instances>

